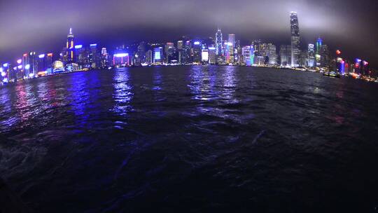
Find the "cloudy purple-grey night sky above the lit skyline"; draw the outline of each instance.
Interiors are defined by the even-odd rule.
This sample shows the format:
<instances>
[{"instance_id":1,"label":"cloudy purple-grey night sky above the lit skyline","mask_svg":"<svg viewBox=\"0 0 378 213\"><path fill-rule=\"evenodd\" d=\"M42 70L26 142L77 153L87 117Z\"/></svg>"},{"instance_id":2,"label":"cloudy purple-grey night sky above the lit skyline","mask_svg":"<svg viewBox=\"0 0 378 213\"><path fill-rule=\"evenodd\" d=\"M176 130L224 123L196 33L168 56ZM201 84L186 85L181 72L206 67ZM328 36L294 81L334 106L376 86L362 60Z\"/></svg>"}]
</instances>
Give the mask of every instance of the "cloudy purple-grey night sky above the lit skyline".
<instances>
[{"instance_id":1,"label":"cloudy purple-grey night sky above the lit skyline","mask_svg":"<svg viewBox=\"0 0 378 213\"><path fill-rule=\"evenodd\" d=\"M175 41L182 35L235 33L254 39L290 43L290 11L297 11L302 43L321 36L347 57L361 57L378 67L377 0L108 0L0 1L0 62L22 53L57 52L73 27L76 43L116 46L135 41ZM246 43L248 41L248 43Z\"/></svg>"}]
</instances>

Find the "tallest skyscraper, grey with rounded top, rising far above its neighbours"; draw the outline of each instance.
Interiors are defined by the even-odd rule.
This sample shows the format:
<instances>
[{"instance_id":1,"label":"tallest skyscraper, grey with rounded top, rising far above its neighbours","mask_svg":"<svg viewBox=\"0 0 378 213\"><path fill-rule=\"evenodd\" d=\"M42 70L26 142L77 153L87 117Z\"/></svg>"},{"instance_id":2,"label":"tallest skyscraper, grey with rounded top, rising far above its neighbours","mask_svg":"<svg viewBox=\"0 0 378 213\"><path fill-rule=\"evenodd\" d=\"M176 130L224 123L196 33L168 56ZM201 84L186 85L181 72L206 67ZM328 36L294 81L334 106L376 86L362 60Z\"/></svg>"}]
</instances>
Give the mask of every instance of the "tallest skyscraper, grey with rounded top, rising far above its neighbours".
<instances>
[{"instance_id":1,"label":"tallest skyscraper, grey with rounded top, rising far above its neighbours","mask_svg":"<svg viewBox=\"0 0 378 213\"><path fill-rule=\"evenodd\" d=\"M290 14L291 28L291 67L299 67L300 64L300 30L296 12Z\"/></svg>"}]
</instances>

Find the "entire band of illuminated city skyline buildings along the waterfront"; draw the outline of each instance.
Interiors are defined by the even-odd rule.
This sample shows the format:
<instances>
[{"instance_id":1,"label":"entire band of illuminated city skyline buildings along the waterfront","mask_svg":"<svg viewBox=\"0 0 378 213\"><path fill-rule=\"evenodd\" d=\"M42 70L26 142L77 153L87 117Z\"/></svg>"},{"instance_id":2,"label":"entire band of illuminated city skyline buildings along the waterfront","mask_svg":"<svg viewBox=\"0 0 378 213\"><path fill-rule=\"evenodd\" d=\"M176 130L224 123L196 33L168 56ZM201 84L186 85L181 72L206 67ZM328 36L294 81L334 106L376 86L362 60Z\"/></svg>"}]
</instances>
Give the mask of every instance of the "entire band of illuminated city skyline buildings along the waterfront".
<instances>
[{"instance_id":1,"label":"entire band of illuminated city skyline buildings along the waterfront","mask_svg":"<svg viewBox=\"0 0 378 213\"><path fill-rule=\"evenodd\" d=\"M278 48L279 47L279 48ZM285 67L336 71L340 74L374 76L369 63L356 59L344 60L318 38L316 43L301 43L300 22L297 13L290 13L290 44L276 46L272 42L255 39L242 45L235 34L223 34L218 28L214 37L190 39L186 36L166 43L134 43L118 46L109 52L97 43L77 44L73 29L69 29L66 43L59 54L25 53L15 63L5 62L0 67L0 82L8 83L20 78L36 78L50 74L113 67L153 66L167 64L218 64L260 67Z\"/></svg>"}]
</instances>

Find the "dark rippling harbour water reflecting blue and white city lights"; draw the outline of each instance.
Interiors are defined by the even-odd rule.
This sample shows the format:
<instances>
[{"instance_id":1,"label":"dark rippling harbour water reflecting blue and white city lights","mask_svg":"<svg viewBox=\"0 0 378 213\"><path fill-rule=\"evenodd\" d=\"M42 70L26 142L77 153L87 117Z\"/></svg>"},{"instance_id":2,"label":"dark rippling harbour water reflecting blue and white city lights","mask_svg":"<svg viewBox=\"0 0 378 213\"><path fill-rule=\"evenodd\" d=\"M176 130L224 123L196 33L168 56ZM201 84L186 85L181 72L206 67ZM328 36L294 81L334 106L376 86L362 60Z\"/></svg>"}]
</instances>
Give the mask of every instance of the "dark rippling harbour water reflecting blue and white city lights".
<instances>
[{"instance_id":1,"label":"dark rippling harbour water reflecting blue and white city lights","mask_svg":"<svg viewBox=\"0 0 378 213\"><path fill-rule=\"evenodd\" d=\"M378 85L251 67L0 88L0 177L34 212L375 212Z\"/></svg>"}]
</instances>

